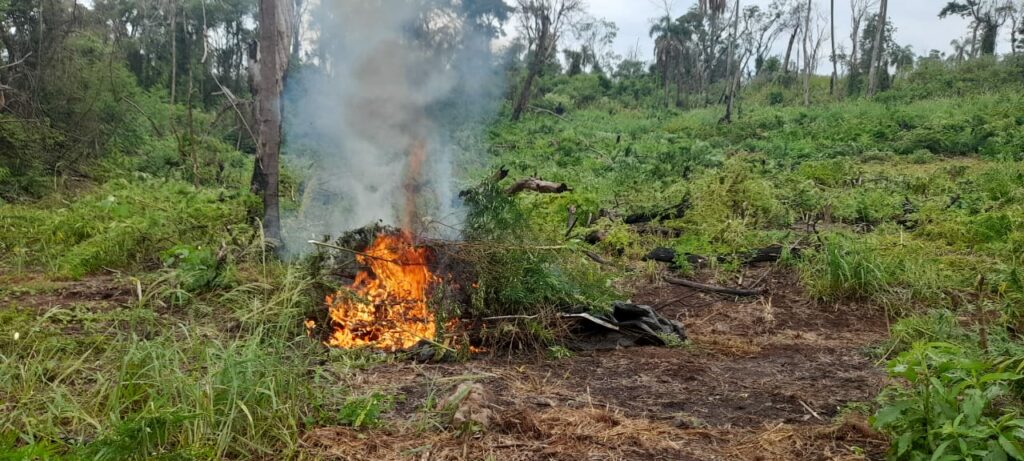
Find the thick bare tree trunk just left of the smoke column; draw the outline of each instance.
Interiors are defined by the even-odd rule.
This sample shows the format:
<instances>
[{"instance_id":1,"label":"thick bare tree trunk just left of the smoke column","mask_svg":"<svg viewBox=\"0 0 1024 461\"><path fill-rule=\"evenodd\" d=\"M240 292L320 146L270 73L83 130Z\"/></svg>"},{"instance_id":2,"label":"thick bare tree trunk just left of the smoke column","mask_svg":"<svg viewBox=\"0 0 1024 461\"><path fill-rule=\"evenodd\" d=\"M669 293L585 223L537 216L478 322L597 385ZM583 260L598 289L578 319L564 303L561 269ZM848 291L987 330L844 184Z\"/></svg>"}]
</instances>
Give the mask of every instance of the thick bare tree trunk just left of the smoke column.
<instances>
[{"instance_id":1,"label":"thick bare tree trunk just left of the smoke column","mask_svg":"<svg viewBox=\"0 0 1024 461\"><path fill-rule=\"evenodd\" d=\"M278 192L281 173L281 95L285 88L291 39L290 2L260 0L259 50L253 70L253 96L259 142L253 168L253 193L263 199L263 234L282 248Z\"/></svg>"}]
</instances>

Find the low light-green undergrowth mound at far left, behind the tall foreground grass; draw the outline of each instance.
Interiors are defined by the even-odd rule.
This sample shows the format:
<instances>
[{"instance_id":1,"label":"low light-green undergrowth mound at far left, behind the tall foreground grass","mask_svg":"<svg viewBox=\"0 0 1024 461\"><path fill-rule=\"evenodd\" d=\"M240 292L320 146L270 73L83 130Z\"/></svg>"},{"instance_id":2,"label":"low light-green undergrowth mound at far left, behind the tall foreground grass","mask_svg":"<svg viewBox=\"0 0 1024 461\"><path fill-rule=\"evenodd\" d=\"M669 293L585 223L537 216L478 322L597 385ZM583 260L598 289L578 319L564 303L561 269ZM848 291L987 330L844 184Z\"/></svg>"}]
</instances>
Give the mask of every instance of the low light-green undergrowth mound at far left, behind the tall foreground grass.
<instances>
[{"instance_id":1,"label":"low light-green undergrowth mound at far left, behind the tall foreground grass","mask_svg":"<svg viewBox=\"0 0 1024 461\"><path fill-rule=\"evenodd\" d=\"M178 181L117 180L71 204L0 208L0 247L25 249L34 265L68 277L138 268L187 243L214 247L245 228L253 205L242 191L197 190Z\"/></svg>"}]
</instances>

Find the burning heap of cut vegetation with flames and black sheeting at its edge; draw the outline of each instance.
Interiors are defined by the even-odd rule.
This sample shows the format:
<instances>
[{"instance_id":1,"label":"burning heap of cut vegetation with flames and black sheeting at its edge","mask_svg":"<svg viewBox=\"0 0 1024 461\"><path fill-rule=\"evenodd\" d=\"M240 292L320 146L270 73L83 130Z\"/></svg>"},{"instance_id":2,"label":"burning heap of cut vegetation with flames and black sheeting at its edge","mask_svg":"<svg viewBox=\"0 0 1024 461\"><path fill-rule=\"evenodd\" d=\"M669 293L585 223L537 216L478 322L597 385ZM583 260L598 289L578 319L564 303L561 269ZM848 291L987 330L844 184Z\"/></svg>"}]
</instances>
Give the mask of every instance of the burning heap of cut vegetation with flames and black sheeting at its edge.
<instances>
[{"instance_id":1,"label":"burning heap of cut vegetation with flames and black sheeting at its edge","mask_svg":"<svg viewBox=\"0 0 1024 461\"><path fill-rule=\"evenodd\" d=\"M337 250L325 266L342 288L326 295L318 320L307 321L310 336L331 347L388 352L685 339L678 324L652 309L613 302L613 268L571 246L538 244L545 240L524 224L515 194L488 180L464 197L469 213L460 241L372 226L318 243ZM599 340L578 340L595 333Z\"/></svg>"}]
</instances>

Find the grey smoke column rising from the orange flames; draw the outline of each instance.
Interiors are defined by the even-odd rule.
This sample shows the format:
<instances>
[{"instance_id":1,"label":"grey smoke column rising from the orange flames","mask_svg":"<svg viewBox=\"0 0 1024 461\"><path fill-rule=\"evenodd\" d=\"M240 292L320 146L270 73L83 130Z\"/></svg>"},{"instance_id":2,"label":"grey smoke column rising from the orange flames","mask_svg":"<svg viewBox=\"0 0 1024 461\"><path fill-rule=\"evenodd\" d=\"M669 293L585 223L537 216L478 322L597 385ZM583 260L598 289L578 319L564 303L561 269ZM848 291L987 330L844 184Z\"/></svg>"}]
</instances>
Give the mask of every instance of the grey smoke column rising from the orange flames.
<instances>
[{"instance_id":1,"label":"grey smoke column rising from the orange flames","mask_svg":"<svg viewBox=\"0 0 1024 461\"><path fill-rule=\"evenodd\" d=\"M401 225L406 216L419 232L459 226L452 164L468 148L453 139L478 138L466 133L493 116L502 82L488 39L447 8L423 0L313 7L312 64L286 88L286 155L306 170L301 207L286 223L292 240Z\"/></svg>"}]
</instances>

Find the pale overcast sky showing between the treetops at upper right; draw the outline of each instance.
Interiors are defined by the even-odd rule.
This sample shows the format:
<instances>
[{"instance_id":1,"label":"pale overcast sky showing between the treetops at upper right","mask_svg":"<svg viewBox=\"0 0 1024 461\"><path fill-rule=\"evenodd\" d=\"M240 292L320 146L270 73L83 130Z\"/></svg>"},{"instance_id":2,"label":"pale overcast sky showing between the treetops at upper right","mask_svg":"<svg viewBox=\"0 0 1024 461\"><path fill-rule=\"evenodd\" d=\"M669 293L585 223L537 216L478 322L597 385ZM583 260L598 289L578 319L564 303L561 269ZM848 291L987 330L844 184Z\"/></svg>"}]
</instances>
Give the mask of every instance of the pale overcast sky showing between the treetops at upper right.
<instances>
[{"instance_id":1,"label":"pale overcast sky showing between the treetops at upper right","mask_svg":"<svg viewBox=\"0 0 1024 461\"><path fill-rule=\"evenodd\" d=\"M651 18L665 14L662 0L587 0L590 11L597 17L613 20L618 26L615 52L626 56L633 48L638 48L639 57L650 60L653 56L653 40L648 36ZM822 14L828 13L826 0L815 0ZM682 15L696 3L696 0L675 0L672 14ZM731 1L729 2L732 3ZM740 0L740 7L760 5L766 7L770 0ZM892 0L889 2L889 17L896 27L896 42L910 45L918 55L928 54L932 49L950 52L949 42L967 34L968 22L959 17L939 19L939 10L946 0ZM1009 52L1009 28L1000 30L996 52ZM836 0L836 46L849 49L850 0ZM778 42L782 42L779 39ZM777 47L784 44L776 43ZM822 53L827 55L827 51ZM822 59L822 67L827 58Z\"/></svg>"}]
</instances>

